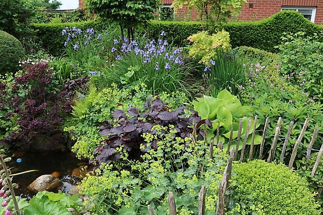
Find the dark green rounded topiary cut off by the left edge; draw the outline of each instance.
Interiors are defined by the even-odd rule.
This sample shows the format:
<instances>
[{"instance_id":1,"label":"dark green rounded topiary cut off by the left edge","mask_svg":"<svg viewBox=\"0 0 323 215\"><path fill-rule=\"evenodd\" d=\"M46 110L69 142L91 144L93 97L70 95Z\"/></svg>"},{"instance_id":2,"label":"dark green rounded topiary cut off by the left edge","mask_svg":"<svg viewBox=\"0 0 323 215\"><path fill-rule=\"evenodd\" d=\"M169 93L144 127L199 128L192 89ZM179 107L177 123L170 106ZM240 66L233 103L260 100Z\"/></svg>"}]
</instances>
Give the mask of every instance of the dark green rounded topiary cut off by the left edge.
<instances>
[{"instance_id":1,"label":"dark green rounded topiary cut off by the left edge","mask_svg":"<svg viewBox=\"0 0 323 215\"><path fill-rule=\"evenodd\" d=\"M15 72L18 61L25 56L21 42L7 32L0 31L0 74Z\"/></svg>"}]
</instances>

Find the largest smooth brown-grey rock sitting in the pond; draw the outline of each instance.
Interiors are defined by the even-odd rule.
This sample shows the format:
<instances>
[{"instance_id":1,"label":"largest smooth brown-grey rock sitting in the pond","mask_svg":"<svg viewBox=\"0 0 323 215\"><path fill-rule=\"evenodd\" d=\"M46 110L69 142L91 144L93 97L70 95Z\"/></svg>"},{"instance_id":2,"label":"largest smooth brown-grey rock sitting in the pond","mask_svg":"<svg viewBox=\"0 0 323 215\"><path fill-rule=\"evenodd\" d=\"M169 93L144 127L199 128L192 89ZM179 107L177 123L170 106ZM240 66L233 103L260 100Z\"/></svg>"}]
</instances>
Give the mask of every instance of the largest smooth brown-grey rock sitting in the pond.
<instances>
[{"instance_id":1,"label":"largest smooth brown-grey rock sitting in the pond","mask_svg":"<svg viewBox=\"0 0 323 215\"><path fill-rule=\"evenodd\" d=\"M43 175L36 178L27 188L33 192L51 191L60 187L62 183L52 175Z\"/></svg>"}]
</instances>

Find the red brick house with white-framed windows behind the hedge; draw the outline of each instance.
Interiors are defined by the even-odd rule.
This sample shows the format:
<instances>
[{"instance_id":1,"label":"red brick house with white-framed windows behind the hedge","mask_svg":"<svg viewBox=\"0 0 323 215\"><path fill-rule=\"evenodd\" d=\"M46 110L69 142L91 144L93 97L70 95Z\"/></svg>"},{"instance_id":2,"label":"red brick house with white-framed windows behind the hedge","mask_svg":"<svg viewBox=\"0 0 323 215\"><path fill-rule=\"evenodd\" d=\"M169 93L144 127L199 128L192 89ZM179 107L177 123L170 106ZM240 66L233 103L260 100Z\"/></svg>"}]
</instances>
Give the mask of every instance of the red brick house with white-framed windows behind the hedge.
<instances>
[{"instance_id":1,"label":"red brick house with white-framed windows behind the hedge","mask_svg":"<svg viewBox=\"0 0 323 215\"><path fill-rule=\"evenodd\" d=\"M79 0L79 8L84 8L84 0ZM175 13L170 6L173 0L162 0L161 19L196 20L198 13L187 8L178 9ZM259 20L267 18L281 10L296 10L315 24L323 24L323 0L249 0L241 9L239 20Z\"/></svg>"}]
</instances>

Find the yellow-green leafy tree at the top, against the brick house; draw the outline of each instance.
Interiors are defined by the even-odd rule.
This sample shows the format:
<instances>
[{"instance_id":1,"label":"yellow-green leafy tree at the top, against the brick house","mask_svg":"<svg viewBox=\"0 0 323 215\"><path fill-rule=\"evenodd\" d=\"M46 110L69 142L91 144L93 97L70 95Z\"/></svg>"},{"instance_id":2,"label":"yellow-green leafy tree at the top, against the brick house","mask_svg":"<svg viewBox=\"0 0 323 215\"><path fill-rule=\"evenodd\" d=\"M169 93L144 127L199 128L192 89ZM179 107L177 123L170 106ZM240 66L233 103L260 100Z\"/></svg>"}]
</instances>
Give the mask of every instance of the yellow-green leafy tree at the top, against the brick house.
<instances>
[{"instance_id":1,"label":"yellow-green leafy tree at the top, against the brick house","mask_svg":"<svg viewBox=\"0 0 323 215\"><path fill-rule=\"evenodd\" d=\"M194 8L199 12L201 20L221 24L237 15L246 3L247 0L174 0L172 7L175 10L184 6Z\"/></svg>"}]
</instances>

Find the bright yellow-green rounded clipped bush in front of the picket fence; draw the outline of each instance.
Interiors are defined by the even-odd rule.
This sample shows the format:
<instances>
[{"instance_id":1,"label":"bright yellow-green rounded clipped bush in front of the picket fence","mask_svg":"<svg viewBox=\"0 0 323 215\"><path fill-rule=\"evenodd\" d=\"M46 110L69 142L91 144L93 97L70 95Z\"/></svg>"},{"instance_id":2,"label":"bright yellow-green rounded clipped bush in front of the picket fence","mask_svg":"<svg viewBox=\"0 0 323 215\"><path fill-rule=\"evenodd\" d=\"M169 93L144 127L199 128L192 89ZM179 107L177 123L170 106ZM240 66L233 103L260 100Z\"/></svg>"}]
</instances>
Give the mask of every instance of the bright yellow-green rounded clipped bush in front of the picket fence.
<instances>
[{"instance_id":1,"label":"bright yellow-green rounded clipped bush in front of the picket fence","mask_svg":"<svg viewBox=\"0 0 323 215\"><path fill-rule=\"evenodd\" d=\"M284 164L236 164L232 179L232 214L320 214L308 182Z\"/></svg>"}]
</instances>

